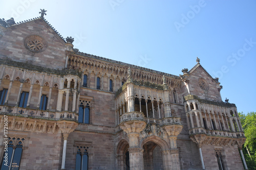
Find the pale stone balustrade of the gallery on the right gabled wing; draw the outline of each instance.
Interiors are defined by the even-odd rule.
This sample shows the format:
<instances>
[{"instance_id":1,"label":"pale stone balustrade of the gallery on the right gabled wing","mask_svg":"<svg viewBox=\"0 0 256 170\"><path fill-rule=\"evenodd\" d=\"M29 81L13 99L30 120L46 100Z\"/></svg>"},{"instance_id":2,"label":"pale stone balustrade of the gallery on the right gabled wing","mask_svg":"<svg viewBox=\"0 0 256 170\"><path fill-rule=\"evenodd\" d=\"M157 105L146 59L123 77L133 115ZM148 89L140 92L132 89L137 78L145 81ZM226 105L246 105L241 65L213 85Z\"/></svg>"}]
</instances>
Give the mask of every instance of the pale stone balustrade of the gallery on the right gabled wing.
<instances>
[{"instance_id":1,"label":"pale stone balustrade of the gallery on the right gabled wing","mask_svg":"<svg viewBox=\"0 0 256 170\"><path fill-rule=\"evenodd\" d=\"M228 131L218 131L218 130L206 130L204 128L193 128L188 130L189 135L205 134L207 136L216 136L216 137L232 137L232 138L244 138L245 135L243 132L228 132Z\"/></svg>"}]
</instances>

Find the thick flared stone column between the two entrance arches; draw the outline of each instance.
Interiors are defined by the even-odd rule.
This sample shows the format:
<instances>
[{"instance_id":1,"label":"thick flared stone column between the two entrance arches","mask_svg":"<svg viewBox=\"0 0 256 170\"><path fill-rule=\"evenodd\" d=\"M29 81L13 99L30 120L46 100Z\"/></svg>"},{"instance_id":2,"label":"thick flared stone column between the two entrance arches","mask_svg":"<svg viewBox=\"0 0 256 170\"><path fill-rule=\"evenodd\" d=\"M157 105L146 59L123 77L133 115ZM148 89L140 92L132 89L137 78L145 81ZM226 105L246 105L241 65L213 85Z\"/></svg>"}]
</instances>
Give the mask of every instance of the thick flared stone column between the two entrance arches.
<instances>
[{"instance_id":1,"label":"thick flared stone column between the two entrance arches","mask_svg":"<svg viewBox=\"0 0 256 170\"><path fill-rule=\"evenodd\" d=\"M130 120L129 122L121 122L120 128L127 133L130 148L130 169L143 170L143 149L139 146L139 134L145 128L146 123L142 120Z\"/></svg>"}]
</instances>

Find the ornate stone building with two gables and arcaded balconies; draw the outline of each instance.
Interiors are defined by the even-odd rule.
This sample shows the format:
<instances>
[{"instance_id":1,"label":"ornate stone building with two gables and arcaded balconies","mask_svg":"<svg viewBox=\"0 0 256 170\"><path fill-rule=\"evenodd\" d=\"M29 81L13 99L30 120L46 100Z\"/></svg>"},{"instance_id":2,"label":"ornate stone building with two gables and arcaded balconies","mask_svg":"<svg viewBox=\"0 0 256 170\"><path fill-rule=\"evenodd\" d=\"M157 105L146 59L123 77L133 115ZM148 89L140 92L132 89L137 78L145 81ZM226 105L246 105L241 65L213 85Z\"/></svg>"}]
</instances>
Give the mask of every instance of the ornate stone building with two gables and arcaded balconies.
<instances>
[{"instance_id":1,"label":"ornate stone building with two gables and arcaded balconies","mask_svg":"<svg viewBox=\"0 0 256 170\"><path fill-rule=\"evenodd\" d=\"M1 169L244 169L236 105L199 59L175 76L82 53L44 14L0 20Z\"/></svg>"}]
</instances>

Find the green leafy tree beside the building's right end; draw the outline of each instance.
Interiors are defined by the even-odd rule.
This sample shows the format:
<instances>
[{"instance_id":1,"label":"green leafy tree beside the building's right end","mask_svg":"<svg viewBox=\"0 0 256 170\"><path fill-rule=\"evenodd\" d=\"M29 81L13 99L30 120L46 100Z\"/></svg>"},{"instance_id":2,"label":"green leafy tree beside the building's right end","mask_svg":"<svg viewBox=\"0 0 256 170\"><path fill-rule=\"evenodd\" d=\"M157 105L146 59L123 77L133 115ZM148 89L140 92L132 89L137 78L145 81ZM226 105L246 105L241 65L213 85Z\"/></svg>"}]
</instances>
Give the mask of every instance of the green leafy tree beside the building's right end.
<instances>
[{"instance_id":1,"label":"green leafy tree beside the building's right end","mask_svg":"<svg viewBox=\"0 0 256 170\"><path fill-rule=\"evenodd\" d=\"M243 145L243 154L248 169L256 169L256 113L239 113L246 141Z\"/></svg>"}]
</instances>

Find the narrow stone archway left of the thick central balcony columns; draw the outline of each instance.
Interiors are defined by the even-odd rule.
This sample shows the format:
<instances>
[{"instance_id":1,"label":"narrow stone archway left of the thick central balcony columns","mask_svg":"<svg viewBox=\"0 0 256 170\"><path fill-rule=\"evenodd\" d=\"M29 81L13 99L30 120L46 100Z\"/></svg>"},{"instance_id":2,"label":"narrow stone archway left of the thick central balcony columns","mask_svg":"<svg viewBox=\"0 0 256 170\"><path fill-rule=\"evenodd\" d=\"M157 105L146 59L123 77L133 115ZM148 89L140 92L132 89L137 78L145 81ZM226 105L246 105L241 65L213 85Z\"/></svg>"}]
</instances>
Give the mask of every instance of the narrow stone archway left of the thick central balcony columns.
<instances>
[{"instance_id":1,"label":"narrow stone archway left of the thick central balcony columns","mask_svg":"<svg viewBox=\"0 0 256 170\"><path fill-rule=\"evenodd\" d=\"M116 158L119 170L130 170L129 147L129 143L125 139L121 139L117 145Z\"/></svg>"}]
</instances>

